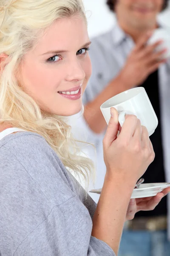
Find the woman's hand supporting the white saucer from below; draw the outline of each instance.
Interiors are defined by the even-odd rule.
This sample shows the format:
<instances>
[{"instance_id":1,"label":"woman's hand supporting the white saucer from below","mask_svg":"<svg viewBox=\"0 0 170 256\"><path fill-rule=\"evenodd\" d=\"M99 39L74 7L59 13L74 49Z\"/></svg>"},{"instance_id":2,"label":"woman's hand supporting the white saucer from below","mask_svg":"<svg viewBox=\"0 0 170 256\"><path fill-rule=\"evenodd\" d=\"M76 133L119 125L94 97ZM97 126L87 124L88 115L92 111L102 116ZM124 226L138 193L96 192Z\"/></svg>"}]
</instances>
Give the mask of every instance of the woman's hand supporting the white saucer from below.
<instances>
[{"instance_id":1,"label":"woman's hand supporting the white saucer from below","mask_svg":"<svg viewBox=\"0 0 170 256\"><path fill-rule=\"evenodd\" d=\"M151 211L159 204L161 199L170 192L170 188L164 189L156 196L147 198L130 199L129 206L126 213L126 221L130 221L134 218L136 212L139 211Z\"/></svg>"}]
</instances>

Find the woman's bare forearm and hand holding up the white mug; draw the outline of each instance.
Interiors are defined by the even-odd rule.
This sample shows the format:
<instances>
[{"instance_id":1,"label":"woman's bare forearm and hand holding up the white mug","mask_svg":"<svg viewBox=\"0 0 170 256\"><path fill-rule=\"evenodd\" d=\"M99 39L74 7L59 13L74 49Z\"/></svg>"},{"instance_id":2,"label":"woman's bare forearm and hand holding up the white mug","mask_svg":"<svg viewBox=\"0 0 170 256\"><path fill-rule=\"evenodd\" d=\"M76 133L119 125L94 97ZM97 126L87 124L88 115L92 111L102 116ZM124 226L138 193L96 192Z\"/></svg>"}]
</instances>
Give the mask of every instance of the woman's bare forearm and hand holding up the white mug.
<instances>
[{"instance_id":1,"label":"woman's bare forearm and hand holding up the white mug","mask_svg":"<svg viewBox=\"0 0 170 256\"><path fill-rule=\"evenodd\" d=\"M155 156L147 128L141 126L136 116L126 116L117 137L118 130L118 113L112 108L103 140L107 171L94 213L91 233L108 244L116 255L136 181L142 177Z\"/></svg>"}]
</instances>

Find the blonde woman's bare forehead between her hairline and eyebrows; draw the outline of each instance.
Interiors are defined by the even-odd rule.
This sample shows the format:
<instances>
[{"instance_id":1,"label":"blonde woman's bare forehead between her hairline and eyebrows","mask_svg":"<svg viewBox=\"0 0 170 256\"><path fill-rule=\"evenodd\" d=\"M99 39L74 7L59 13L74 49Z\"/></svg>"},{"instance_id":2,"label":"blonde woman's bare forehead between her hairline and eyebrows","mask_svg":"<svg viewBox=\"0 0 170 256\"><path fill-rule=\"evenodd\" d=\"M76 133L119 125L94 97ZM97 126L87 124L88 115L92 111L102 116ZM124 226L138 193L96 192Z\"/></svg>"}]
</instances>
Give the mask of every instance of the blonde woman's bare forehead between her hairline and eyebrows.
<instances>
[{"instance_id":1,"label":"blonde woman's bare forehead between her hairline and eyebrows","mask_svg":"<svg viewBox=\"0 0 170 256\"><path fill-rule=\"evenodd\" d=\"M35 48L40 54L52 50L68 50L89 41L85 19L79 15L60 18L48 29Z\"/></svg>"}]
</instances>

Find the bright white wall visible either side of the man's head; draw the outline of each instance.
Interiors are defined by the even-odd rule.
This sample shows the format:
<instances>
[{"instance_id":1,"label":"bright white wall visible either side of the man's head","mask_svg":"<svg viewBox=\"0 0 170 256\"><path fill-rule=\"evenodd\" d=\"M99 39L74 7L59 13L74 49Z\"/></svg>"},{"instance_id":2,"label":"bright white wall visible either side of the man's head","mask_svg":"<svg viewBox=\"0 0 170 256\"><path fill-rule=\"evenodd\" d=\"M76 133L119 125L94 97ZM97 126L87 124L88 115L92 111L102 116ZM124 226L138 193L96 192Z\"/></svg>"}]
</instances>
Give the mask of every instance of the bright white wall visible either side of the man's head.
<instances>
[{"instance_id":1,"label":"bright white wall visible either side of the man's head","mask_svg":"<svg viewBox=\"0 0 170 256\"><path fill-rule=\"evenodd\" d=\"M109 11L106 0L83 0L88 17L88 32L90 37L99 35L113 26L115 17ZM170 26L170 7L159 15L160 20Z\"/></svg>"}]
</instances>

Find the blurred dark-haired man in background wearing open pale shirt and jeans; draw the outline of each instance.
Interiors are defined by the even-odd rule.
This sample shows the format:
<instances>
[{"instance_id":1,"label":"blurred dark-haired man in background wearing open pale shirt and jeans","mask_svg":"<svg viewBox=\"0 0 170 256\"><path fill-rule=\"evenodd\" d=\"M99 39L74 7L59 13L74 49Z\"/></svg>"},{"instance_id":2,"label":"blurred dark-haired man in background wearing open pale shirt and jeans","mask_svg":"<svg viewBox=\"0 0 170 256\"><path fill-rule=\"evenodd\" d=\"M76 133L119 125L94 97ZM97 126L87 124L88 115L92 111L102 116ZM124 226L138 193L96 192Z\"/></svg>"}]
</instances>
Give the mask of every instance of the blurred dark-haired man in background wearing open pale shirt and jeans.
<instances>
[{"instance_id":1,"label":"blurred dark-haired man in background wearing open pale shirt and jeans","mask_svg":"<svg viewBox=\"0 0 170 256\"><path fill-rule=\"evenodd\" d=\"M136 86L145 88L159 120L150 136L156 157L143 175L144 182L170 182L170 61L160 61L164 51L154 51L161 41L147 46L152 31L161 26L157 15L167 7L167 0L108 0L107 4L117 23L92 40L93 72L84 93L84 116L79 119L79 130L96 146L95 188L102 187L106 172L102 151L106 122L100 105ZM90 147L86 153L94 160ZM90 195L98 201L98 195ZM124 230L119 256L170 256L169 211L166 197L153 211L137 213Z\"/></svg>"}]
</instances>

